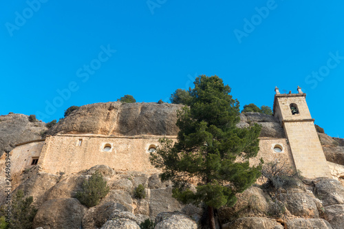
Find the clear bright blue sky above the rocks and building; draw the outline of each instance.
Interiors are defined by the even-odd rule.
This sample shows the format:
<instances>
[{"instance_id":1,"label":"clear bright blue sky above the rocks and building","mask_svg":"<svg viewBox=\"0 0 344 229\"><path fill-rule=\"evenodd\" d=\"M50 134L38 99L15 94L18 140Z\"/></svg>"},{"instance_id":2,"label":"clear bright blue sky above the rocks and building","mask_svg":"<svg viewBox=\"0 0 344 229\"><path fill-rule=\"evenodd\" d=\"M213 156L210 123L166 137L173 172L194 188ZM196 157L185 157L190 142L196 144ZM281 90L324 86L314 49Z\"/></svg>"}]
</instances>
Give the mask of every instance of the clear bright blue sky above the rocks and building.
<instances>
[{"instance_id":1,"label":"clear bright blue sky above the rocks and building","mask_svg":"<svg viewBox=\"0 0 344 229\"><path fill-rule=\"evenodd\" d=\"M0 114L49 122L125 94L168 101L216 74L241 108L272 107L275 86L299 85L315 123L344 138L343 9L339 0L4 0Z\"/></svg>"}]
</instances>

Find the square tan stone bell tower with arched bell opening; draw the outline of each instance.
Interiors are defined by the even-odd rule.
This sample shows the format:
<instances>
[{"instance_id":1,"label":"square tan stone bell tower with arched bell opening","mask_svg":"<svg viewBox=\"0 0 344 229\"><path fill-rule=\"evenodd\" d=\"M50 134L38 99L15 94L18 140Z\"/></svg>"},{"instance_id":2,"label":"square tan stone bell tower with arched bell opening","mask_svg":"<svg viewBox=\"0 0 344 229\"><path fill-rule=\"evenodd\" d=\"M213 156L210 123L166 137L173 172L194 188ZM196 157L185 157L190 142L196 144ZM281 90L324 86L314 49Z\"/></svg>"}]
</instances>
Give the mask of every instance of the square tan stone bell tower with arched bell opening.
<instances>
[{"instance_id":1,"label":"square tan stone bell tower with arched bell opening","mask_svg":"<svg viewBox=\"0 0 344 229\"><path fill-rule=\"evenodd\" d=\"M301 87L297 94L275 91L274 116L286 133L297 170L308 178L332 177Z\"/></svg>"}]
</instances>

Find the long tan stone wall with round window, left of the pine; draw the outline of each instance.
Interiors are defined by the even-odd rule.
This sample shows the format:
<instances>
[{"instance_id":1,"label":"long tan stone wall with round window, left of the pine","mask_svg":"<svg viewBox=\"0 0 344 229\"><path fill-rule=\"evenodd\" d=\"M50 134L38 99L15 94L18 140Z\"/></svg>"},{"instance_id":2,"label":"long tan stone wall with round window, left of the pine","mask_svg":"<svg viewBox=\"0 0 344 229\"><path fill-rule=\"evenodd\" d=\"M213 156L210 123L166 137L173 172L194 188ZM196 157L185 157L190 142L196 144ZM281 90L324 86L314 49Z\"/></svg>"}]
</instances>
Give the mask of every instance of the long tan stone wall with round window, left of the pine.
<instances>
[{"instance_id":1,"label":"long tan stone wall with round window, left of the pine","mask_svg":"<svg viewBox=\"0 0 344 229\"><path fill-rule=\"evenodd\" d=\"M157 146L164 136L56 135L45 140L39 165L47 173L78 173L97 164L115 171L157 173L149 161L149 146ZM175 139L175 136L168 136ZM80 140L81 145L79 145ZM109 144L110 151L103 151Z\"/></svg>"}]
</instances>

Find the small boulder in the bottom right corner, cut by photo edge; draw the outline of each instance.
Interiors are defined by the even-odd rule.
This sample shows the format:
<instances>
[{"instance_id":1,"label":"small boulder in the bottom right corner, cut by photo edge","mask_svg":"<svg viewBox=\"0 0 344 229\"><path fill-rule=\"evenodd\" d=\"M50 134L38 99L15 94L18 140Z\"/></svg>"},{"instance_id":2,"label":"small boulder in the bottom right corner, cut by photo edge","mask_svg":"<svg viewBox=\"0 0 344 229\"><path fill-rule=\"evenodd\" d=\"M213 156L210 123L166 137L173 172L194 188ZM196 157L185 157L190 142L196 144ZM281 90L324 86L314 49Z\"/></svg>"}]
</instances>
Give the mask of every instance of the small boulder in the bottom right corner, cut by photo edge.
<instances>
[{"instance_id":1,"label":"small boulder in the bottom right corner, cut by photo edge","mask_svg":"<svg viewBox=\"0 0 344 229\"><path fill-rule=\"evenodd\" d=\"M344 204L325 206L324 219L331 224L332 228L342 229L344 226Z\"/></svg>"}]
</instances>

